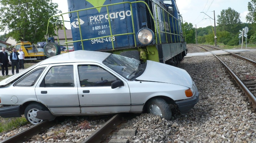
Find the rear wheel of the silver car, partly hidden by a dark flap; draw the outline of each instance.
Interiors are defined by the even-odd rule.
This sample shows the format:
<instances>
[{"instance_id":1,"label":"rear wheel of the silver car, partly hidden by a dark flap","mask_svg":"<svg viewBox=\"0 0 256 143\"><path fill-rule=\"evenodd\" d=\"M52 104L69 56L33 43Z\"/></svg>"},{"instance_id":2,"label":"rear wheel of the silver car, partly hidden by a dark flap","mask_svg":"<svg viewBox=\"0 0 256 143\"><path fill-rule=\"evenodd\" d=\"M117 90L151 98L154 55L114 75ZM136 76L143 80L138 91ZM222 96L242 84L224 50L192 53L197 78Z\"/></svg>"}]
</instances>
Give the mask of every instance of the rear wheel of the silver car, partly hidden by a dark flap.
<instances>
[{"instance_id":1,"label":"rear wheel of the silver car, partly hidden by a dark flap","mask_svg":"<svg viewBox=\"0 0 256 143\"><path fill-rule=\"evenodd\" d=\"M31 103L29 104L24 112L25 118L32 124L38 124L42 122L43 120L35 118L37 111L43 110L43 111L48 111L48 109L38 103Z\"/></svg>"}]
</instances>

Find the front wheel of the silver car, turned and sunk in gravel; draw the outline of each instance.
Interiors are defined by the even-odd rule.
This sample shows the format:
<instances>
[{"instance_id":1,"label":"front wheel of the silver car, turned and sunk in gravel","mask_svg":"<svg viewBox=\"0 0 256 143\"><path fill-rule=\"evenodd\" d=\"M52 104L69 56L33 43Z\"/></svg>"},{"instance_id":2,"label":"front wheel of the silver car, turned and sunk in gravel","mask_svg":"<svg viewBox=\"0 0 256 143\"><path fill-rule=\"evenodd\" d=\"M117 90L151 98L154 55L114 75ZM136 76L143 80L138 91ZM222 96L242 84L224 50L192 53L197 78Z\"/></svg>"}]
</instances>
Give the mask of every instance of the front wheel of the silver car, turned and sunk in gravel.
<instances>
[{"instance_id":1,"label":"front wheel of the silver car, turned and sunk in gravel","mask_svg":"<svg viewBox=\"0 0 256 143\"><path fill-rule=\"evenodd\" d=\"M148 113L159 115L160 117L170 120L172 111L169 104L162 98L150 99L147 104Z\"/></svg>"}]
</instances>

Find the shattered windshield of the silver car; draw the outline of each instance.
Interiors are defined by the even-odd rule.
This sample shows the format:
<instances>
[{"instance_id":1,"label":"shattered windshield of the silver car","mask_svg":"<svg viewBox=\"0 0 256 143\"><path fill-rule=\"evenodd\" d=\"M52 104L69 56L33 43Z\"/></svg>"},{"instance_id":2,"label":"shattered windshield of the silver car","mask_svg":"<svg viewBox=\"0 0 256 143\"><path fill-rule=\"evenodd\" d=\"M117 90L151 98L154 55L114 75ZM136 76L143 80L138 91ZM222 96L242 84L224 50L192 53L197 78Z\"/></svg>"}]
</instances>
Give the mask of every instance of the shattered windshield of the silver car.
<instances>
[{"instance_id":1,"label":"shattered windshield of the silver car","mask_svg":"<svg viewBox=\"0 0 256 143\"><path fill-rule=\"evenodd\" d=\"M140 61L116 54L111 54L102 63L127 79L136 76L140 66Z\"/></svg>"}]
</instances>

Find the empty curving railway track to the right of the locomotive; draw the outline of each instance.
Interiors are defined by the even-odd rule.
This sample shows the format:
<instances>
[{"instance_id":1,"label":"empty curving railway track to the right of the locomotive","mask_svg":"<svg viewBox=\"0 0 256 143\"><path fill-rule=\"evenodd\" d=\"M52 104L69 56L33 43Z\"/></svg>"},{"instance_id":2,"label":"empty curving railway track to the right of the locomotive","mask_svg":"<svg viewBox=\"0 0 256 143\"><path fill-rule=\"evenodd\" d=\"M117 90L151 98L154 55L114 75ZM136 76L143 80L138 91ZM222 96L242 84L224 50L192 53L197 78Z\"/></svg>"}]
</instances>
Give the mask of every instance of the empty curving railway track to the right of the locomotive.
<instances>
[{"instance_id":1,"label":"empty curving railway track to the right of the locomotive","mask_svg":"<svg viewBox=\"0 0 256 143\"><path fill-rule=\"evenodd\" d=\"M242 56L240 56L238 54L229 52L227 50L223 50L225 52L228 52L230 55L232 55L232 56L234 56L236 58L239 58L241 60L245 60L246 61L245 64L252 64L252 65L254 65L253 68L248 68L248 69L245 69L246 65L244 65L244 67L242 67L242 68L245 69L245 71L244 70L243 71L236 70L236 72L233 72L231 70L231 68L228 67L228 65L227 65L227 62L230 62L230 57L229 58L224 58L223 56L217 56L211 50L208 50L205 47L209 47L211 49L213 48L213 49L217 49L217 50L222 50L222 49L216 48L216 47L212 47L212 46L208 46L208 45L200 45L200 46L199 45L194 45L194 46L203 48L204 50L211 52L223 64L223 66L227 69L227 71L230 73L230 75L236 81L236 83L238 84L238 86L240 87L242 92L245 94L245 96L247 97L248 101L251 103L254 111L256 111L256 75L255 75L256 72L253 71L253 70L256 69L256 67L255 67L256 66L256 62L251 60L251 59L242 57ZM205 46L205 47L202 47L202 46ZM226 62L226 64L225 64L224 61ZM238 67L233 67L233 70L235 70L234 68L239 69Z\"/></svg>"}]
</instances>

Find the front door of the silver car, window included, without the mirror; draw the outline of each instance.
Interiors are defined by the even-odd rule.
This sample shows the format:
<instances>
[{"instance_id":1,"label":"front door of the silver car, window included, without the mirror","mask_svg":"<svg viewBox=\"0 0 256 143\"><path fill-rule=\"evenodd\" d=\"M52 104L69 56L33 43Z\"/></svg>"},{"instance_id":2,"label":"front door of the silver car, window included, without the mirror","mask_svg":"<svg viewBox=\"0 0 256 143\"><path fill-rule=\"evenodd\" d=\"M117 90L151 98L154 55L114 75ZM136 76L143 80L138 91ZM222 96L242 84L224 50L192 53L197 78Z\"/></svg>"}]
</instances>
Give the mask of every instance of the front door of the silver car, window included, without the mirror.
<instances>
[{"instance_id":1,"label":"front door of the silver car, window included, without the mirror","mask_svg":"<svg viewBox=\"0 0 256 143\"><path fill-rule=\"evenodd\" d=\"M100 64L79 64L78 96L81 113L119 113L131 109L130 90L125 80L106 70ZM111 88L111 83L120 80L124 86Z\"/></svg>"}]
</instances>

